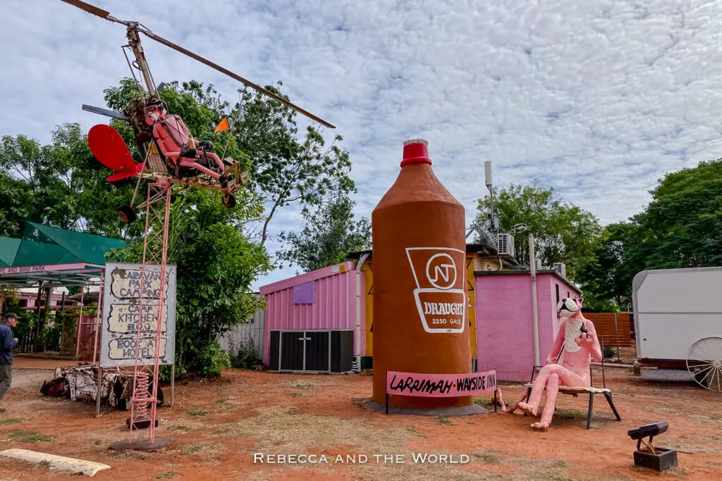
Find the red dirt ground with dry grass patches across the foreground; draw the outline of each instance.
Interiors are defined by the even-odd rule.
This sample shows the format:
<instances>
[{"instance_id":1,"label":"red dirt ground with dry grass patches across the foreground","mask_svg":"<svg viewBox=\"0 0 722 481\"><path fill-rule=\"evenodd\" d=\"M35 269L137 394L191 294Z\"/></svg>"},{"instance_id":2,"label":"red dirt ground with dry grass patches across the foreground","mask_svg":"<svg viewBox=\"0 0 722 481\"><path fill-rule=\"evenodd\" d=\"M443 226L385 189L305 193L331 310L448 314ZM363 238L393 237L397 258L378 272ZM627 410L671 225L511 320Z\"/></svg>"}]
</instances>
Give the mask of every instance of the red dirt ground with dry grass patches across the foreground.
<instances>
[{"instance_id":1,"label":"red dirt ground with dry grass patches across the foreground","mask_svg":"<svg viewBox=\"0 0 722 481\"><path fill-rule=\"evenodd\" d=\"M95 406L43 397L51 379L35 363L15 369L0 415L4 449L21 448L110 465L98 480L684 480L722 479L722 394L688 384L656 384L622 369L607 369L607 386L622 422L604 397L595 402L593 428L586 425L587 400L560 394L547 432L531 431L531 418L491 412L465 418L386 416L362 407L371 377L290 375L227 371L221 379L176 384L175 407L159 410L158 436L173 445L155 453L108 450L127 436L126 411L95 418ZM16 366L19 367L19 366ZM595 379L600 379L599 374ZM168 387L165 399L170 399ZM507 402L521 385L503 385ZM627 430L664 420L669 431L655 445L679 453L679 467L658 475L635 468L635 442ZM17 431L55 436L21 442ZM466 464L414 464L411 453L469 456ZM325 454L326 464L259 464L253 453ZM365 454L366 463L334 462L338 454ZM373 454L403 454L404 463L377 463ZM0 479L77 480L77 475L0 458Z\"/></svg>"}]
</instances>

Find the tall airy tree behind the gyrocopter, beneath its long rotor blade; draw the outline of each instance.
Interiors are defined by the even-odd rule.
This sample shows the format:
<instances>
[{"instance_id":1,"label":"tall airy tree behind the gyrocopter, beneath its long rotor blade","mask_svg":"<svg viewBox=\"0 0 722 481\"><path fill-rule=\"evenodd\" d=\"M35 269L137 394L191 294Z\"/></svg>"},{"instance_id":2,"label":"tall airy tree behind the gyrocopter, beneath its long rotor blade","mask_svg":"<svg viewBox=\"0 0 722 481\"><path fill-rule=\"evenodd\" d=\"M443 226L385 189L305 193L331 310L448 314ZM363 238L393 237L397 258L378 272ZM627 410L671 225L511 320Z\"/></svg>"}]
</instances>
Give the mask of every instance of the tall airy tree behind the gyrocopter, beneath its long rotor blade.
<instances>
[{"instance_id":1,"label":"tall airy tree behind the gyrocopter, beneath its long rotor blade","mask_svg":"<svg viewBox=\"0 0 722 481\"><path fill-rule=\"evenodd\" d=\"M282 95L277 87L266 89ZM138 92L132 79L123 79L118 87L105 90L105 102L111 109L124 111ZM355 185L349 177L349 154L338 146L341 136L329 144L311 125L299 138L295 110L255 91L244 89L239 94L239 102L231 108L212 85L173 81L160 89L168 111L181 115L196 139L212 141L219 155L243 161L243 168L251 174L253 191L266 204L260 233L264 244L271 220L280 208L292 203L304 208L317 206L326 195L355 191ZM224 117L230 121L230 130L214 133ZM112 124L126 143L133 141L127 123L114 120Z\"/></svg>"}]
</instances>

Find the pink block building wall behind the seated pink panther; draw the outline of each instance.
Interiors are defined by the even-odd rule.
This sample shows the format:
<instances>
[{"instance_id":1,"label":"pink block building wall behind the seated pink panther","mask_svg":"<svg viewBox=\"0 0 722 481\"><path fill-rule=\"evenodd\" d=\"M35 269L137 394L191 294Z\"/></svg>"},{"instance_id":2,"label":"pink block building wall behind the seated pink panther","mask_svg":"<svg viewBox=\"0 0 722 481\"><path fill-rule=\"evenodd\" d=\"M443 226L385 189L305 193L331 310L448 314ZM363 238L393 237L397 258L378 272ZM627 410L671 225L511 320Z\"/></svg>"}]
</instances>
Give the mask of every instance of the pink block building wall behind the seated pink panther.
<instances>
[{"instance_id":1,"label":"pink block building wall behind the seated pink panther","mask_svg":"<svg viewBox=\"0 0 722 481\"><path fill-rule=\"evenodd\" d=\"M529 273L477 275L477 369L497 370L500 381L528 381L534 366L534 327L531 316ZM544 359L559 330L557 286L560 299L579 292L552 273L536 275L536 312L539 321L539 358Z\"/></svg>"}]
</instances>

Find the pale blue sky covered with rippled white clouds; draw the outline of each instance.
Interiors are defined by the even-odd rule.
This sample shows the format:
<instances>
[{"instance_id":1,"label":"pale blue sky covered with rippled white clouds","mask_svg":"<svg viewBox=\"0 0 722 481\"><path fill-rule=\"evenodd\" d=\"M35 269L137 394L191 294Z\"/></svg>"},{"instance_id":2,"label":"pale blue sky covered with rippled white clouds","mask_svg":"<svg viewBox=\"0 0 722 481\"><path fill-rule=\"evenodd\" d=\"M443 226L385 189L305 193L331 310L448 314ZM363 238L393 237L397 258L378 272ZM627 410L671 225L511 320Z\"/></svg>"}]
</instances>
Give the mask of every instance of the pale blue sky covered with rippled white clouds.
<instances>
[{"instance_id":1,"label":"pale blue sky covered with rippled white clouds","mask_svg":"<svg viewBox=\"0 0 722 481\"><path fill-rule=\"evenodd\" d=\"M362 215L409 137L430 142L469 219L485 160L497 185L540 177L606 224L640 211L666 172L722 154L720 1L91 3L259 84L282 80L344 136ZM102 106L103 89L128 75L123 27L59 0L4 0L3 12L0 135L48 141L60 123L103 122L80 106ZM158 83L196 79L237 97L232 79L144 45ZM274 224L294 229L299 217Z\"/></svg>"}]
</instances>

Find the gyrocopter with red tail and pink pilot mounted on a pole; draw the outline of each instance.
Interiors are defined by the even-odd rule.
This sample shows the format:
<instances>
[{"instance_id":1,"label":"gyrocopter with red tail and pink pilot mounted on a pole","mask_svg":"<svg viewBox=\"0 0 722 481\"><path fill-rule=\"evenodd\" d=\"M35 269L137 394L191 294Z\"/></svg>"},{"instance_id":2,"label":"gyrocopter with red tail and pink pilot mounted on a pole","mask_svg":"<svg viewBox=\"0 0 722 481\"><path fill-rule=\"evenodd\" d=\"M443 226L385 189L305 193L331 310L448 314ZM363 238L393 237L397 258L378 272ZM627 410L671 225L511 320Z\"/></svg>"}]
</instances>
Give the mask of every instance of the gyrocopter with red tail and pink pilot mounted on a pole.
<instances>
[{"instance_id":1,"label":"gyrocopter with red tail and pink pilot mounted on a pole","mask_svg":"<svg viewBox=\"0 0 722 481\"><path fill-rule=\"evenodd\" d=\"M134 97L126 108L126 112L115 112L100 107L92 107L83 105L83 110L94 112L100 115L106 115L110 118L125 120L128 122L135 134L136 146L144 161L136 163L126 146L120 133L115 128L106 124L94 125L88 132L88 145L90 151L95 158L105 167L112 169L116 173L108 177L109 182L117 182L118 180L127 179L129 177L138 177L138 186L142 179L155 180L157 182L170 182L177 185L185 185L186 187L205 187L214 190L220 190L222 193L223 204L229 208L235 206L234 193L243 187L248 174L241 172L240 164L234 159L226 157L220 159L215 154L213 144L210 141L196 141L191 132L183 123L183 119L178 115L168 112L168 106L160 98L160 88L156 87L155 81L149 69L144 50L140 41L140 34L144 34L152 40L156 40L167 47L173 48L186 56L189 56L207 66L215 69L222 74L230 76L232 79L238 80L247 87L255 89L261 94L267 95L287 107L300 112L306 117L314 120L321 125L329 128L335 128L334 125L325 120L316 117L316 115L303 110L301 107L292 104L274 92L270 92L263 87L244 79L232 71L203 58L196 53L186 50L185 48L175 45L165 38L155 35L139 22L131 22L117 19L103 9L85 3L80 0L62 0L66 4L77 6L90 14L96 15L110 22L120 23L126 26L126 37L128 44L123 45L123 53L126 54L126 48L129 48L135 57L135 61L131 62L126 54L126 61L131 67L131 74L139 87L139 92L143 92L138 79L136 79L133 69L139 70L147 90L147 94L141 94ZM228 128L227 119L224 118L216 128L216 131ZM136 193L138 187L136 186ZM150 199L145 200L134 206L135 195L130 204L125 204L118 208L121 219L130 224L136 219L135 211L144 208Z\"/></svg>"}]
</instances>

